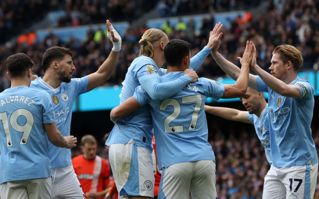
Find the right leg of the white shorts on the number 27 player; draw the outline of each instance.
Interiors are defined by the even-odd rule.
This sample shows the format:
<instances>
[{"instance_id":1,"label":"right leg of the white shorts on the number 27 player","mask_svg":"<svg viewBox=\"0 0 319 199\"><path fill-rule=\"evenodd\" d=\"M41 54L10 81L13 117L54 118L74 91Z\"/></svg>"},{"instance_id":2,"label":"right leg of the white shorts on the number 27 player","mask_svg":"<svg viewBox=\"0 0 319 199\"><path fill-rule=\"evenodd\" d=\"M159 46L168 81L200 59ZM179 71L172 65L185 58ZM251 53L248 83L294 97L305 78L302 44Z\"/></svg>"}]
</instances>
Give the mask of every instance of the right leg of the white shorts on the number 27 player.
<instances>
[{"instance_id":1,"label":"right leg of the white shorts on the number 27 player","mask_svg":"<svg viewBox=\"0 0 319 199\"><path fill-rule=\"evenodd\" d=\"M193 178L190 182L192 199L216 199L216 164L213 160L194 162Z\"/></svg>"}]
</instances>

